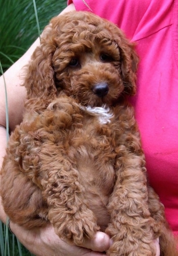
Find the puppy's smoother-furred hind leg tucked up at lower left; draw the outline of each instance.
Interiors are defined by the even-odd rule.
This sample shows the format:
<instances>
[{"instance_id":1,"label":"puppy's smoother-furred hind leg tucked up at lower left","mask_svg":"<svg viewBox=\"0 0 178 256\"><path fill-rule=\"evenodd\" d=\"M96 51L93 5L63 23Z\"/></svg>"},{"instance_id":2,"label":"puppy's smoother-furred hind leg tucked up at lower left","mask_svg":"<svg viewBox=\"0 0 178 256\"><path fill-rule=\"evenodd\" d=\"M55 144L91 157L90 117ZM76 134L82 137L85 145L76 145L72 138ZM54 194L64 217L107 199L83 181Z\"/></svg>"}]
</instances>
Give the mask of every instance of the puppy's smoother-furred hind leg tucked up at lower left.
<instances>
[{"instance_id":1,"label":"puppy's smoother-furred hind leg tucked up at lower left","mask_svg":"<svg viewBox=\"0 0 178 256\"><path fill-rule=\"evenodd\" d=\"M47 224L47 208L41 190L20 172L11 155L7 155L1 170L1 196L10 220L26 228Z\"/></svg>"}]
</instances>

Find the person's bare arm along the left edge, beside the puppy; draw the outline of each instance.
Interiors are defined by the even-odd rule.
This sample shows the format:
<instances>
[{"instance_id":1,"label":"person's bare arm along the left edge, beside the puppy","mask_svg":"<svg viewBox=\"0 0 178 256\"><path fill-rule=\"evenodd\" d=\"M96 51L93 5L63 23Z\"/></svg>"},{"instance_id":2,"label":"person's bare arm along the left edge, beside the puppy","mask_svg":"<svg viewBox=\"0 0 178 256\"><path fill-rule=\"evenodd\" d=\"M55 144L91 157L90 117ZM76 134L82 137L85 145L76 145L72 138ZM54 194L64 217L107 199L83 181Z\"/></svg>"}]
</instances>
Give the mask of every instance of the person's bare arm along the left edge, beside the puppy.
<instances>
[{"instance_id":1,"label":"person's bare arm along the left edge, beside the puppy","mask_svg":"<svg viewBox=\"0 0 178 256\"><path fill-rule=\"evenodd\" d=\"M31 48L16 61L4 74L0 77L0 170L3 163L3 157L6 153L7 147L7 134L6 134L6 97L5 97L5 85L7 88L8 96L8 110L9 110L9 129L13 130L17 124L22 120L23 113L23 101L26 96L26 90L20 84L22 79L20 78L21 69L29 61L30 56L39 44L37 39ZM14 94L16 97L14 97ZM1 186L1 175L0 175ZM1 188L1 187L0 187ZM6 223L7 217L3 209L2 200L0 197L0 220Z\"/></svg>"}]
</instances>

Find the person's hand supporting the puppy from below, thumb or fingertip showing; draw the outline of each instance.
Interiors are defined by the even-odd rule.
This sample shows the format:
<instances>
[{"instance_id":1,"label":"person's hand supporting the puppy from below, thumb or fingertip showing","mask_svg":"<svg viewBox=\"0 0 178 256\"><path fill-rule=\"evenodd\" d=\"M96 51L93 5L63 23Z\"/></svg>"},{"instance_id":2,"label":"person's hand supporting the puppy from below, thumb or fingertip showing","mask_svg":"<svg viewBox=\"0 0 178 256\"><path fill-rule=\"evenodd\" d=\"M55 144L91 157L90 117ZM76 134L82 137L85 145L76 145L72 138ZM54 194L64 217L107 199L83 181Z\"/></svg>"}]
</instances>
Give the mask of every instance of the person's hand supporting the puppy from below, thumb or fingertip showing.
<instances>
[{"instance_id":1,"label":"person's hand supporting the puppy from below, thumb or fingertip showing","mask_svg":"<svg viewBox=\"0 0 178 256\"><path fill-rule=\"evenodd\" d=\"M101 256L110 247L110 238L103 232L97 232L94 240L85 240L83 247L69 245L62 241L48 225L44 228L26 230L14 223L10 223L19 241L37 256Z\"/></svg>"}]
</instances>

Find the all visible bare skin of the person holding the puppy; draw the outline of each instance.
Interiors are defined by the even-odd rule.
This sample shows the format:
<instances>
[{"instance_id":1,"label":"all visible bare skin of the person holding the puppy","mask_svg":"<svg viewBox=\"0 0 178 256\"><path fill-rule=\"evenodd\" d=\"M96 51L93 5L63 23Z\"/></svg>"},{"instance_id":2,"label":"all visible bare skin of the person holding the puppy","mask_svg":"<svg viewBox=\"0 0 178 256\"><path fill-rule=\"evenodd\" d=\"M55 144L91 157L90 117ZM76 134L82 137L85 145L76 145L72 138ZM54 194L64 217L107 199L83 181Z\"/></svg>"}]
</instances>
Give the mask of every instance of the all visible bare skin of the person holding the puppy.
<instances>
[{"instance_id":1,"label":"all visible bare skin of the person holding the puppy","mask_svg":"<svg viewBox=\"0 0 178 256\"><path fill-rule=\"evenodd\" d=\"M69 5L62 13L75 10L73 4ZM62 14L61 13L61 14ZM8 112L9 112L9 130L14 130L15 126L22 121L23 101L26 96L26 90L20 86L23 81L23 66L27 64L32 53L39 45L37 39L31 48L17 60L4 74L0 77L0 167L2 166L3 156L6 153L7 135L6 135L6 99L5 86L6 81L8 95ZM0 176L1 178L1 176ZM0 183L1 184L1 183ZM0 198L0 219L6 223L7 216L4 212ZM62 241L55 234L52 225L43 228L27 230L15 223L10 223L11 230L17 236L18 240L32 253L37 256L99 256L105 255L102 251L109 248L111 240L103 232L97 232L94 240L85 240L81 247L69 245ZM155 241L157 246L157 255L159 255L159 242ZM98 252L97 252L98 251Z\"/></svg>"}]
</instances>

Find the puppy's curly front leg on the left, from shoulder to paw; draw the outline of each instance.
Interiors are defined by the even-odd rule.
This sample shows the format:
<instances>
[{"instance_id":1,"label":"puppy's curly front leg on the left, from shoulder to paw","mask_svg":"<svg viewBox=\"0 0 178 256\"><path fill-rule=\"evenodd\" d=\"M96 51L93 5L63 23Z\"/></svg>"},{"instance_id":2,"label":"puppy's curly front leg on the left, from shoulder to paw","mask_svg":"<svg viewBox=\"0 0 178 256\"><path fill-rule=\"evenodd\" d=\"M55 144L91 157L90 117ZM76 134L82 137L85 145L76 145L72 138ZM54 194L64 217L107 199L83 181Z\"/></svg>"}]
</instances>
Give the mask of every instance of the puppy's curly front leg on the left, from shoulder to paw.
<instances>
[{"instance_id":1,"label":"puppy's curly front leg on the left, from shoulder to paw","mask_svg":"<svg viewBox=\"0 0 178 256\"><path fill-rule=\"evenodd\" d=\"M30 133L21 171L42 191L47 218L56 234L67 242L80 245L84 238L93 238L99 229L96 217L87 208L79 173L68 160L64 146L55 144L48 132L40 134L40 130ZM45 142L41 142L42 139ZM35 149L30 146L32 141L39 144Z\"/></svg>"}]
</instances>

